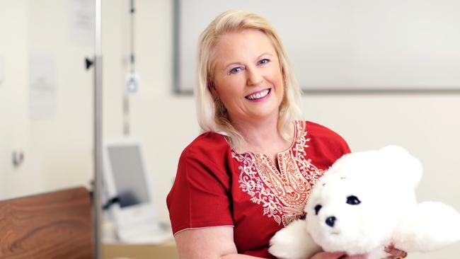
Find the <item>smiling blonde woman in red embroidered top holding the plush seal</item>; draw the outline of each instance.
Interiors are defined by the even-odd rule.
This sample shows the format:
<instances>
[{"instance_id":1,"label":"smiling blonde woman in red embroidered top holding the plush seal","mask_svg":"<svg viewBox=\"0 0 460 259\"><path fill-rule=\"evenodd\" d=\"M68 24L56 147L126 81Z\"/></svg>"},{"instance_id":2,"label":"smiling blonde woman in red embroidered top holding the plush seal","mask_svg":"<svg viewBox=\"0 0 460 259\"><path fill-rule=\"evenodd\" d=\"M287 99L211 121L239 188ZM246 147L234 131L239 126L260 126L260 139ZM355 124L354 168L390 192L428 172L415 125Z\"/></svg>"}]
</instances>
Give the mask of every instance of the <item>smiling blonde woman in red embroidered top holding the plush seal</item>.
<instances>
[{"instance_id":1,"label":"smiling blonde woman in red embroidered top holding the plush seal","mask_svg":"<svg viewBox=\"0 0 460 259\"><path fill-rule=\"evenodd\" d=\"M304 216L311 188L350 149L302 121L282 42L255 13L227 11L203 31L195 95L204 133L167 199L180 258L272 258L270 238Z\"/></svg>"}]
</instances>

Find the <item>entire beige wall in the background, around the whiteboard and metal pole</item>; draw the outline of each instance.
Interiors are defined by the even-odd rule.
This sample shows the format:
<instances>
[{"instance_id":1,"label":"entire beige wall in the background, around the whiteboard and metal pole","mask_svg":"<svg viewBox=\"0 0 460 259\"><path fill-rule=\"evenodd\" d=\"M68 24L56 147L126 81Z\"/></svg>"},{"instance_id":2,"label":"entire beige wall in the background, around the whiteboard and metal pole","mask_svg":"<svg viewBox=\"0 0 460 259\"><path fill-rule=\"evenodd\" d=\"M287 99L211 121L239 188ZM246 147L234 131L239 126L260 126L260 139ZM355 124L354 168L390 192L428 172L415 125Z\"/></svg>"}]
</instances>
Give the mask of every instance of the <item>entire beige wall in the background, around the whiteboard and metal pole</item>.
<instances>
[{"instance_id":1,"label":"entire beige wall in the background, around the whiteboard and metal pole","mask_svg":"<svg viewBox=\"0 0 460 259\"><path fill-rule=\"evenodd\" d=\"M8 77L8 81L0 84L0 198L88 185L92 175L92 75L81 70L80 64L93 50L91 47L56 49L52 47L59 42L55 38L38 45L45 49L48 46L47 51L52 50L58 56L57 113L48 121L28 120L27 99L21 97L28 94L28 81L18 76L18 71L26 71L28 46L33 44L30 39L38 37L30 30L41 27L35 24L35 16L28 17L27 21L23 9L33 6L38 12L42 10L57 19L51 22L56 28L45 30L48 35L64 33L67 28L64 22L59 23L63 19L59 13L67 10L59 2L65 1L50 0L52 6L57 6L53 10L31 2L8 1L11 9L0 8L0 56L5 57ZM176 96L171 90L171 2L137 1L136 51L141 88L139 93L130 96L132 135L144 143L147 168L154 180L156 209L164 221L168 220L165 200L176 173L178 156L199 132L194 100L191 96ZM5 5L6 1L0 3ZM103 131L106 137L122 134L122 81L127 71L129 47L127 6L122 0L103 4ZM12 16L12 12L17 15ZM5 21L16 21L18 28L13 29ZM13 33L16 44L4 41L4 32ZM59 42L59 45L67 44ZM13 55L19 61L11 62ZM71 71L77 72L69 74ZM386 144L409 149L425 166L425 175L417 190L420 200L447 202L460 211L457 188L460 93L306 94L303 100L306 120L334 129L352 150L376 149ZM14 122L16 120L21 122ZM28 162L19 170L13 169L10 162L11 149L15 146L25 146L27 151ZM410 258L455 258L458 254L460 244L455 244L430 256Z\"/></svg>"}]
</instances>

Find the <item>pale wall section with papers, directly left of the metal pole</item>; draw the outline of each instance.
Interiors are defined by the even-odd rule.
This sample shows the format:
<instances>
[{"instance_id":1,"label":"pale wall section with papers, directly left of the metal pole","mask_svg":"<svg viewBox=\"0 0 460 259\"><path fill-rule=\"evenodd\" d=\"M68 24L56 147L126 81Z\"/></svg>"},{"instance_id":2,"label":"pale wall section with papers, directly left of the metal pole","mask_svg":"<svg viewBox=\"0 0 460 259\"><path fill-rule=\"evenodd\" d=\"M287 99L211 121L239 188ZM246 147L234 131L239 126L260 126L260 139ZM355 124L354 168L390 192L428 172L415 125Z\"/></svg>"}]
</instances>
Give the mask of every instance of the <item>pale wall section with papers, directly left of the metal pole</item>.
<instances>
[{"instance_id":1,"label":"pale wall section with papers, directly left of the metal pole","mask_svg":"<svg viewBox=\"0 0 460 259\"><path fill-rule=\"evenodd\" d=\"M93 56L93 44L71 40L71 1L27 3L27 51L54 59L56 82L54 112L45 118L30 117L29 112L30 170L43 175L45 190L88 187L93 177L93 70L85 69L84 59ZM89 33L92 38L93 30Z\"/></svg>"}]
</instances>

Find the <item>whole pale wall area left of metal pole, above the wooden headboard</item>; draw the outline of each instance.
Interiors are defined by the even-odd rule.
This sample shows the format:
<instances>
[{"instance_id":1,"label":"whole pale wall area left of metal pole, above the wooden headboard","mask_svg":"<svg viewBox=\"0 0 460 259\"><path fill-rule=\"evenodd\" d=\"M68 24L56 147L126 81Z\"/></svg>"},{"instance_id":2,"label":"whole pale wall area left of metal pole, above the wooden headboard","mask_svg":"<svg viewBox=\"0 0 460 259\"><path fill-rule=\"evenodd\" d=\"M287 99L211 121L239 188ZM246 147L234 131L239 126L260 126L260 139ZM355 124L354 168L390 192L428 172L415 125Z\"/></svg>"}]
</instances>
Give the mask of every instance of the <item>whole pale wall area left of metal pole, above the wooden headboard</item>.
<instances>
[{"instance_id":1,"label":"whole pale wall area left of metal pole, above the wooden headboard","mask_svg":"<svg viewBox=\"0 0 460 259\"><path fill-rule=\"evenodd\" d=\"M91 45L69 38L69 1L0 2L0 199L89 185L92 178L92 74L84 69ZM92 14L90 13L92 16ZM44 117L30 108L30 57L52 59L52 108ZM35 106L34 106L35 107ZM21 166L11 154L23 151Z\"/></svg>"}]
</instances>

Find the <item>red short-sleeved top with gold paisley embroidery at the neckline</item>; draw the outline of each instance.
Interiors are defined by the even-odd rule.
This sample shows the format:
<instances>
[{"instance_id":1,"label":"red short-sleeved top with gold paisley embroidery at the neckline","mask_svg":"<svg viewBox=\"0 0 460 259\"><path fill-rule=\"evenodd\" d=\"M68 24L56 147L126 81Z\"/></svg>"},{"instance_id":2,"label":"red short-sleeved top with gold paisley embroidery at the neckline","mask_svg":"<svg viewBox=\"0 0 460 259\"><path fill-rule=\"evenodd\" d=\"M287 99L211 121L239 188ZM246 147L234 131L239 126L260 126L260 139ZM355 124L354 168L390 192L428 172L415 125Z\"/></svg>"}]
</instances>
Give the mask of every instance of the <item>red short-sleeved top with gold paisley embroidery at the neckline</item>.
<instances>
[{"instance_id":1,"label":"red short-sleeved top with gold paisley embroidery at the neckline","mask_svg":"<svg viewBox=\"0 0 460 259\"><path fill-rule=\"evenodd\" d=\"M268 156L238 154L226 139L206 132L179 159L167 204L173 233L205 226L234 226L238 253L273 258L268 243L276 231L304 216L311 188L332 163L350 152L332 130L295 124L294 142Z\"/></svg>"}]
</instances>

